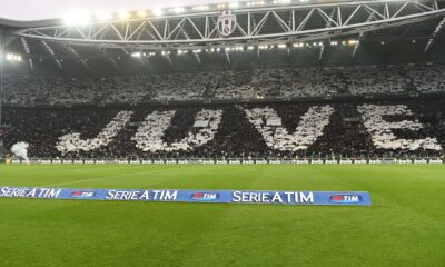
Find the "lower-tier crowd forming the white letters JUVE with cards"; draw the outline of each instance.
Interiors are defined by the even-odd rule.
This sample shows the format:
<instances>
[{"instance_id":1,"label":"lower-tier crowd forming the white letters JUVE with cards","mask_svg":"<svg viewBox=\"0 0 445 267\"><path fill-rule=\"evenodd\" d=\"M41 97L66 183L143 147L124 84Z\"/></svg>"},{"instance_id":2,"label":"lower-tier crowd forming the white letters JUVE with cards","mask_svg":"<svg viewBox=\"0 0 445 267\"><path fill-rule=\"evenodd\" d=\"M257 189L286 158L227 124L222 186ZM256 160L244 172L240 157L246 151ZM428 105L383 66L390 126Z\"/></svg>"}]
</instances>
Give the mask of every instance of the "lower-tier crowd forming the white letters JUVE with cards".
<instances>
[{"instance_id":1,"label":"lower-tier crowd forming the white letters JUVE with cards","mask_svg":"<svg viewBox=\"0 0 445 267\"><path fill-rule=\"evenodd\" d=\"M7 108L4 145L40 158L443 156L445 100Z\"/></svg>"}]
</instances>

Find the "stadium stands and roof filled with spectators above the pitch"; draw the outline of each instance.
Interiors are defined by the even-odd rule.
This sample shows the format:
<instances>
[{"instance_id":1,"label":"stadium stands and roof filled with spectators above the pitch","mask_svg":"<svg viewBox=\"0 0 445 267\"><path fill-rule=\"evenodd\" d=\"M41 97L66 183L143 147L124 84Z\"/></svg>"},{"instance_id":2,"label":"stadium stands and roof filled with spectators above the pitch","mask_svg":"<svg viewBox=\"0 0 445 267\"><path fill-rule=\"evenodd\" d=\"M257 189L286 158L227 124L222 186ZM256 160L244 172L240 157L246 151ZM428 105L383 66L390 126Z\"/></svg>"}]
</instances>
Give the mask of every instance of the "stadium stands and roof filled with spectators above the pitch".
<instances>
[{"instance_id":1,"label":"stadium stands and roof filled with spectators above the pitch","mask_svg":"<svg viewBox=\"0 0 445 267\"><path fill-rule=\"evenodd\" d=\"M444 155L445 2L199 7L0 21L8 156Z\"/></svg>"}]
</instances>

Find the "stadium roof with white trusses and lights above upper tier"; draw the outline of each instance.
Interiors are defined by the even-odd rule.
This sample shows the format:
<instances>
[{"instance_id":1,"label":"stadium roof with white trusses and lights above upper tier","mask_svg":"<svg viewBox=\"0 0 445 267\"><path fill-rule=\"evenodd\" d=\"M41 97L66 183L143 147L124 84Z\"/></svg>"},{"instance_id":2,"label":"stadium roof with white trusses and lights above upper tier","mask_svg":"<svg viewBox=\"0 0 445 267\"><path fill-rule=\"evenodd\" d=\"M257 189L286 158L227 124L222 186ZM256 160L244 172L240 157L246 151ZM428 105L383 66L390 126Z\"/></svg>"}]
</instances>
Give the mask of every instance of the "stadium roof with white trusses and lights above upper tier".
<instances>
[{"instance_id":1,"label":"stadium roof with white trusses and lights above upper tier","mask_svg":"<svg viewBox=\"0 0 445 267\"><path fill-rule=\"evenodd\" d=\"M236 19L229 34L218 22L225 10ZM0 29L21 71L116 75L441 60L444 18L443 0L255 0L1 20Z\"/></svg>"}]
</instances>

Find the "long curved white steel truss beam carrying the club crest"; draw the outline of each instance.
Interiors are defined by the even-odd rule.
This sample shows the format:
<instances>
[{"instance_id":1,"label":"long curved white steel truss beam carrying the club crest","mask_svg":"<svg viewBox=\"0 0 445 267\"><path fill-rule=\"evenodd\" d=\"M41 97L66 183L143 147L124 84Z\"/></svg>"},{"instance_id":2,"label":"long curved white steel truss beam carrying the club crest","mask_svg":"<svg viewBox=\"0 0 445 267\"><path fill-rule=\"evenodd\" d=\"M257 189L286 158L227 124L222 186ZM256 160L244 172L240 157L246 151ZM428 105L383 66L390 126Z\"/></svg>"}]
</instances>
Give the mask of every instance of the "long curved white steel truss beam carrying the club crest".
<instances>
[{"instance_id":1,"label":"long curved white steel truss beam carrying the club crest","mask_svg":"<svg viewBox=\"0 0 445 267\"><path fill-rule=\"evenodd\" d=\"M334 12L329 16L327 10L334 10ZM373 13L373 21L367 21L363 11ZM435 0L339 1L240 9L234 12L236 16L246 18L247 23L238 23L237 30L230 37L222 37L218 32L217 21L220 11L139 18L125 22L121 20L97 22L88 27L56 24L26 28L14 31L13 34L44 41L67 42L70 46L136 50L190 49L206 48L209 44L313 41L445 17L444 4L437 4ZM324 26L317 22L320 17L326 21ZM296 18L303 18L303 20L297 21ZM256 22L256 20L259 21ZM150 34L141 34L145 30L149 30ZM186 31L187 36L180 34Z\"/></svg>"}]
</instances>

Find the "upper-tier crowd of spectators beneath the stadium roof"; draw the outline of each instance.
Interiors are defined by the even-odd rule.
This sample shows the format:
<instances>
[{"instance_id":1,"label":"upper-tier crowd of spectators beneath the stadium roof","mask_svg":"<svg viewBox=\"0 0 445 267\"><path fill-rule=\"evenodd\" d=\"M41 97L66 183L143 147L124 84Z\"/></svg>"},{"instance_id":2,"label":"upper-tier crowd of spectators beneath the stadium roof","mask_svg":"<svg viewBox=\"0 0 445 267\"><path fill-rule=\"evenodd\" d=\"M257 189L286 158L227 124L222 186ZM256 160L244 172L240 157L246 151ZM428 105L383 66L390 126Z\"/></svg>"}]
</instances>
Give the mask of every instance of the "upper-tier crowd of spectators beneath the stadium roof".
<instances>
[{"instance_id":1,"label":"upper-tier crowd of spectators beneath the stadium roof","mask_svg":"<svg viewBox=\"0 0 445 267\"><path fill-rule=\"evenodd\" d=\"M445 92L445 66L264 69L112 78L4 77L13 106L137 105L149 101L305 98Z\"/></svg>"}]
</instances>

